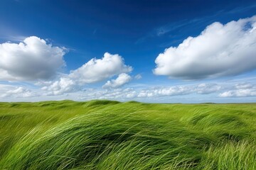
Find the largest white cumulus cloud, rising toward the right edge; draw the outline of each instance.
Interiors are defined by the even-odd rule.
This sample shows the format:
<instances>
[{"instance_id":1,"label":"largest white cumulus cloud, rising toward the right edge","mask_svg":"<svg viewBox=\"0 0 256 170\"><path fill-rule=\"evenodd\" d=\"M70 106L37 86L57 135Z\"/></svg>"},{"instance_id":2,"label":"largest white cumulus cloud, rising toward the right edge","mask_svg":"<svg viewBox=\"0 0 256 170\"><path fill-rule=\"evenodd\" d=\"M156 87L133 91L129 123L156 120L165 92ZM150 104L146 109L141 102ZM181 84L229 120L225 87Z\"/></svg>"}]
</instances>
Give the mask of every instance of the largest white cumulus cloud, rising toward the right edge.
<instances>
[{"instance_id":1,"label":"largest white cumulus cloud, rising toward the right edge","mask_svg":"<svg viewBox=\"0 0 256 170\"><path fill-rule=\"evenodd\" d=\"M256 16L212 23L201 35L169 47L155 60L154 74L204 79L256 69Z\"/></svg>"}]
</instances>

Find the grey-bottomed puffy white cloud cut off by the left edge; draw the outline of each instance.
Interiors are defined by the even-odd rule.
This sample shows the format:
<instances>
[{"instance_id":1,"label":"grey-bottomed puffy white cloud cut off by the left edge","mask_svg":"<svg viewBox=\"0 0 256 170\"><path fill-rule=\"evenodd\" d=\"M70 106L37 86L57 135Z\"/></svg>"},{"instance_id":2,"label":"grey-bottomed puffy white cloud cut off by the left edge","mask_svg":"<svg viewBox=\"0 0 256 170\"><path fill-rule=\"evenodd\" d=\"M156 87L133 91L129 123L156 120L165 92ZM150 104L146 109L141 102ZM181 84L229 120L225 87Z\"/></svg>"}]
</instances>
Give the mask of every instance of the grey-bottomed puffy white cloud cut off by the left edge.
<instances>
[{"instance_id":1,"label":"grey-bottomed puffy white cloud cut off by the left edge","mask_svg":"<svg viewBox=\"0 0 256 170\"><path fill-rule=\"evenodd\" d=\"M23 42L0 44L0 79L6 81L49 79L65 64L65 48L53 47L36 36Z\"/></svg>"}]
</instances>

